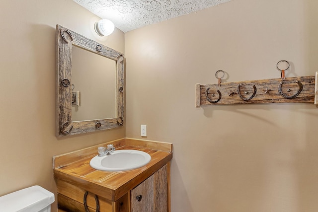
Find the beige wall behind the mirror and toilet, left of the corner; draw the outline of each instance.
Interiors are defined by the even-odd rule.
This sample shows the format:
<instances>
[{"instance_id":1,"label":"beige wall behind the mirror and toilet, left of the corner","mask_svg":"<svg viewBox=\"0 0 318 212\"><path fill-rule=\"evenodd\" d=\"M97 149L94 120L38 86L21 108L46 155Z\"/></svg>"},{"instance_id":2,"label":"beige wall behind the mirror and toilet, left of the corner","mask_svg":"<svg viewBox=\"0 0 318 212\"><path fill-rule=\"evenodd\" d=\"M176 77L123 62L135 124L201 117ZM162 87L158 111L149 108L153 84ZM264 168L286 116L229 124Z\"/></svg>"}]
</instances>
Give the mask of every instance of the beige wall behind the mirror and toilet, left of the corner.
<instances>
[{"instance_id":1,"label":"beige wall behind the mirror and toilet, left of the corner","mask_svg":"<svg viewBox=\"0 0 318 212\"><path fill-rule=\"evenodd\" d=\"M72 0L0 1L0 196L35 184L56 193L53 155L125 137L125 128L55 137L56 24L124 52L124 33L100 39L97 20Z\"/></svg>"}]
</instances>

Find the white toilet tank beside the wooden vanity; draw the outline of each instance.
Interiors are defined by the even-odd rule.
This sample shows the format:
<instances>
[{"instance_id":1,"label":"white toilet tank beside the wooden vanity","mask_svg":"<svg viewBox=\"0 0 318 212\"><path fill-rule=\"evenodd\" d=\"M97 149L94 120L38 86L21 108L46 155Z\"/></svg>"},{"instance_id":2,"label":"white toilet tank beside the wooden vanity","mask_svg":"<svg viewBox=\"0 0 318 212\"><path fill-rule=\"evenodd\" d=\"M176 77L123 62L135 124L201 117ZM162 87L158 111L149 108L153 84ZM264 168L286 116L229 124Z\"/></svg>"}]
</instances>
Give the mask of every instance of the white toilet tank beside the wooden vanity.
<instances>
[{"instance_id":1,"label":"white toilet tank beside the wooden vanity","mask_svg":"<svg viewBox=\"0 0 318 212\"><path fill-rule=\"evenodd\" d=\"M31 186L0 197L0 212L51 212L54 194Z\"/></svg>"}]
</instances>

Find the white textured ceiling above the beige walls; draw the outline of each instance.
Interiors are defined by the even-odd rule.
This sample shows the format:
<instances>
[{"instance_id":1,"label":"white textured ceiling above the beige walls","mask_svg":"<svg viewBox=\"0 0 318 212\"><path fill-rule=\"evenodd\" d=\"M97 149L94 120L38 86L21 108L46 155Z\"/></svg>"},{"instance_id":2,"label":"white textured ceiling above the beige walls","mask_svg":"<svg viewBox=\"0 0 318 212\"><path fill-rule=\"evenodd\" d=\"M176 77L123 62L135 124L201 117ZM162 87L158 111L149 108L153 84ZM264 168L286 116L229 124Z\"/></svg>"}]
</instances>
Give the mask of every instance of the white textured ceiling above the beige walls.
<instances>
[{"instance_id":1,"label":"white textured ceiling above the beige walls","mask_svg":"<svg viewBox=\"0 0 318 212\"><path fill-rule=\"evenodd\" d=\"M123 32L189 14L230 0L74 0Z\"/></svg>"}]
</instances>

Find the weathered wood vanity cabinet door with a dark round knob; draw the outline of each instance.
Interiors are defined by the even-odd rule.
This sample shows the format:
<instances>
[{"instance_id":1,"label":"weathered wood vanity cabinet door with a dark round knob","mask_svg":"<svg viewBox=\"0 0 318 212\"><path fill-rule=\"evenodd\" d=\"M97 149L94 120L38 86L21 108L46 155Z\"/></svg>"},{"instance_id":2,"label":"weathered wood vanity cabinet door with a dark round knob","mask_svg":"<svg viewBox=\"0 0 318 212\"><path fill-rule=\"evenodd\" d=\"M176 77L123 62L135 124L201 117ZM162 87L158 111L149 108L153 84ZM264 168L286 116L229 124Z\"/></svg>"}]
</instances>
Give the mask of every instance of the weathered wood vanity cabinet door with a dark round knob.
<instances>
[{"instance_id":1,"label":"weathered wood vanity cabinet door with a dark round knob","mask_svg":"<svg viewBox=\"0 0 318 212\"><path fill-rule=\"evenodd\" d=\"M131 190L131 212L167 212L167 166Z\"/></svg>"}]
</instances>

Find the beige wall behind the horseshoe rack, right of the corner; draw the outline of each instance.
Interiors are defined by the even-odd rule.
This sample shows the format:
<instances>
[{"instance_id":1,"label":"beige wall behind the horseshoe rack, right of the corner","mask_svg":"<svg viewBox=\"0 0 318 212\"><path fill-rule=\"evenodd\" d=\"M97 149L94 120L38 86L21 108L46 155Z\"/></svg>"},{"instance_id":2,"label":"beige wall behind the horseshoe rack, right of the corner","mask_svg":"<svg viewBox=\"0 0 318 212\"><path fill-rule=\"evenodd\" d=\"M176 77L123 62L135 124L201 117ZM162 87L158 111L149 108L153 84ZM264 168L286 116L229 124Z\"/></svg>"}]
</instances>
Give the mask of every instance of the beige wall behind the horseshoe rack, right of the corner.
<instances>
[{"instance_id":1,"label":"beige wall behind the horseshoe rack, right of the corner","mask_svg":"<svg viewBox=\"0 0 318 212\"><path fill-rule=\"evenodd\" d=\"M318 107L195 108L195 84L318 71L318 2L232 0L125 33L126 137L174 145L172 212L317 212Z\"/></svg>"}]
</instances>

